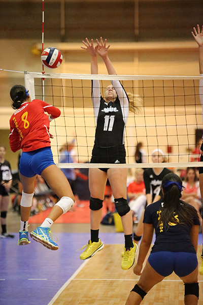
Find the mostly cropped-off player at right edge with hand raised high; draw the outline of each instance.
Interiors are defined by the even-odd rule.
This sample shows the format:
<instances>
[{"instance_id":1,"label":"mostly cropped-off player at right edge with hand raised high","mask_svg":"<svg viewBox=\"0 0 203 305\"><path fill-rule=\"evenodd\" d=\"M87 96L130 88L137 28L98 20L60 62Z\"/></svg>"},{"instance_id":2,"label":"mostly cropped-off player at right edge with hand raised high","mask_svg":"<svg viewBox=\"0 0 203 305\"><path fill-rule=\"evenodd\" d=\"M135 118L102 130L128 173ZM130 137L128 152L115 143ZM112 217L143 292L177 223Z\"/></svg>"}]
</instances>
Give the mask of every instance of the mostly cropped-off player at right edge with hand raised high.
<instances>
[{"instance_id":1,"label":"mostly cropped-off player at right edge with hand raised high","mask_svg":"<svg viewBox=\"0 0 203 305\"><path fill-rule=\"evenodd\" d=\"M192 32L192 36L194 37L196 43L199 46L199 73L200 76L203 76L203 25L201 27L201 32L200 32L200 27L197 24L197 31L196 28L193 27L194 33ZM203 113L203 79L199 80L199 99L201 102L201 107L202 107L202 113ZM203 120L203 116L202 116ZM202 136L203 139L203 136ZM201 150L201 157L200 161L203 161L203 143L201 144L200 147ZM203 167L199 167L199 188L200 188L200 193L201 193L201 200L203 202ZM203 212L202 212L202 217L203 217ZM203 222L201 223L201 228L202 228L202 240L203 240ZM203 243L202 243L202 253L201 253L201 266L199 268L199 273L201 276L203 276Z\"/></svg>"}]
</instances>

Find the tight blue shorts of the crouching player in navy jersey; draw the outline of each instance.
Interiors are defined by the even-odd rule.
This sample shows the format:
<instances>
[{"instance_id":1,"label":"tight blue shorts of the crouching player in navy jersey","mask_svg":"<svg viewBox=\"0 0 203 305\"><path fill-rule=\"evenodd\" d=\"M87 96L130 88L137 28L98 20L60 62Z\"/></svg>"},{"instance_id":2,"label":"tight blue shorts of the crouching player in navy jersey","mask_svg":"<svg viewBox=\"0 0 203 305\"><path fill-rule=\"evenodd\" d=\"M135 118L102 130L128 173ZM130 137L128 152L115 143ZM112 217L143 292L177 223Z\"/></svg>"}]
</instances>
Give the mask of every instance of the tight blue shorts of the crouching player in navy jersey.
<instances>
[{"instance_id":1,"label":"tight blue shorts of the crouching player in navy jersey","mask_svg":"<svg viewBox=\"0 0 203 305\"><path fill-rule=\"evenodd\" d=\"M149 264L162 277L174 271L178 277L188 276L197 267L196 253L160 251L151 253Z\"/></svg>"}]
</instances>

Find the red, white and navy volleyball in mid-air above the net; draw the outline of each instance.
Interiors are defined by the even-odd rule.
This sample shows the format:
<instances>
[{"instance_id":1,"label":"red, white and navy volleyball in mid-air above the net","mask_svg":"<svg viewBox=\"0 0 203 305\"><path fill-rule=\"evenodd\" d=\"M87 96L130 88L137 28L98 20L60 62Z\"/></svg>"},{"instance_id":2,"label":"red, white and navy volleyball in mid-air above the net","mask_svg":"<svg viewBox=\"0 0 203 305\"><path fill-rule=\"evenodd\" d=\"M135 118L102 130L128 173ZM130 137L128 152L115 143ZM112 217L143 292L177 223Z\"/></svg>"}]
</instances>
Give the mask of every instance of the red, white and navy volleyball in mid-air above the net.
<instances>
[{"instance_id":1,"label":"red, white and navy volleyball in mid-air above the net","mask_svg":"<svg viewBox=\"0 0 203 305\"><path fill-rule=\"evenodd\" d=\"M55 69L62 63L63 56L58 49L49 47L42 52L41 60L45 67Z\"/></svg>"}]
</instances>

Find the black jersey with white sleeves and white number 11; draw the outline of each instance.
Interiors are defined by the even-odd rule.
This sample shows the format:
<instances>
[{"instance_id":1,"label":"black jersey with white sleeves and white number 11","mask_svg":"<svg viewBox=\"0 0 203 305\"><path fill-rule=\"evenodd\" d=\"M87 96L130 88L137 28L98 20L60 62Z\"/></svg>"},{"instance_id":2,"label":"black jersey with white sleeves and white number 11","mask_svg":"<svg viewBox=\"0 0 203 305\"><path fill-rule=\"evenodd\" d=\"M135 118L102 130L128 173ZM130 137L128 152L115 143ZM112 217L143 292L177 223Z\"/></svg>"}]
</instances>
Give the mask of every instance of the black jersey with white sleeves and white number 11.
<instances>
[{"instance_id":1,"label":"black jersey with white sleeves and white number 11","mask_svg":"<svg viewBox=\"0 0 203 305\"><path fill-rule=\"evenodd\" d=\"M117 98L105 102L100 95L98 80L92 80L92 103L96 119L94 144L98 147L113 147L124 144L125 126L129 114L129 100L120 81L111 81Z\"/></svg>"}]
</instances>

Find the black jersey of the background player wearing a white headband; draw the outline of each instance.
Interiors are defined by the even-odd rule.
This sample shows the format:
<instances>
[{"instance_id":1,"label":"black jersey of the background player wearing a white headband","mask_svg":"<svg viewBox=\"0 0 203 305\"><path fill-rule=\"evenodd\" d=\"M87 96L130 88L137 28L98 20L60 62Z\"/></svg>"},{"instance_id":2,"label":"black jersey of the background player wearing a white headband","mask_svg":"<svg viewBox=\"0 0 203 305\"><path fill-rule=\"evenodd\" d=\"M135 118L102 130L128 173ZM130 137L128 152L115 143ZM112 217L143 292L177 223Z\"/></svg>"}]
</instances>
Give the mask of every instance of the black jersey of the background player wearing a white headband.
<instances>
[{"instance_id":1,"label":"black jersey of the background player wearing a white headband","mask_svg":"<svg viewBox=\"0 0 203 305\"><path fill-rule=\"evenodd\" d=\"M159 175L156 175L152 168L148 168L144 171L143 177L146 194L152 194L152 201L156 195L162 196L161 181L163 177L168 173L171 173L171 170L167 168L163 168Z\"/></svg>"}]
</instances>

